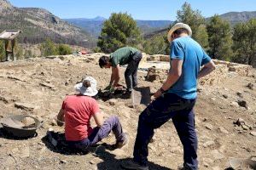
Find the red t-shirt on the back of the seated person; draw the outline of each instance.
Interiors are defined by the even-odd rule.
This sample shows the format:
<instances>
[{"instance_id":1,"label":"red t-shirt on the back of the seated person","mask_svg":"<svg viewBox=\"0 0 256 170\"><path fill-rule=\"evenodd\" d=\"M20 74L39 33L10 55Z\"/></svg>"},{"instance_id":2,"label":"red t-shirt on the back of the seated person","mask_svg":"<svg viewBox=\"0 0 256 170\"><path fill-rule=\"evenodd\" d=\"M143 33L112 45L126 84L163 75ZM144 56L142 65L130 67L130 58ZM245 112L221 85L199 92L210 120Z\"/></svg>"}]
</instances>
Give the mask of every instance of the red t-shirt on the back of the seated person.
<instances>
[{"instance_id":1,"label":"red t-shirt on the back of the seated person","mask_svg":"<svg viewBox=\"0 0 256 170\"><path fill-rule=\"evenodd\" d=\"M96 100L84 95L70 95L64 100L65 137L69 141L87 138L91 131L90 118L99 111Z\"/></svg>"}]
</instances>

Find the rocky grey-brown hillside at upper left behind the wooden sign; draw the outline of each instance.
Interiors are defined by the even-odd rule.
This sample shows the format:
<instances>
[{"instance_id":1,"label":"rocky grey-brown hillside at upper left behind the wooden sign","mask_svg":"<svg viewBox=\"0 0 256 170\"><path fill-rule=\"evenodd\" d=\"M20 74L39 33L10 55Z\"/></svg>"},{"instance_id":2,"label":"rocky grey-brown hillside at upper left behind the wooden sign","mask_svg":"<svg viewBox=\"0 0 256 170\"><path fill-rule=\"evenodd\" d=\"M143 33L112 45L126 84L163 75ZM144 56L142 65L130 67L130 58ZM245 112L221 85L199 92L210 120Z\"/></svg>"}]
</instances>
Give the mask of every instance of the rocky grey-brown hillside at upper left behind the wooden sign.
<instances>
[{"instance_id":1,"label":"rocky grey-brown hillside at upper left behind the wooden sign","mask_svg":"<svg viewBox=\"0 0 256 170\"><path fill-rule=\"evenodd\" d=\"M15 8L8 0L0 0L0 31L19 29L20 42L55 42L92 46L93 39L80 28L61 20L44 8Z\"/></svg>"}]
</instances>

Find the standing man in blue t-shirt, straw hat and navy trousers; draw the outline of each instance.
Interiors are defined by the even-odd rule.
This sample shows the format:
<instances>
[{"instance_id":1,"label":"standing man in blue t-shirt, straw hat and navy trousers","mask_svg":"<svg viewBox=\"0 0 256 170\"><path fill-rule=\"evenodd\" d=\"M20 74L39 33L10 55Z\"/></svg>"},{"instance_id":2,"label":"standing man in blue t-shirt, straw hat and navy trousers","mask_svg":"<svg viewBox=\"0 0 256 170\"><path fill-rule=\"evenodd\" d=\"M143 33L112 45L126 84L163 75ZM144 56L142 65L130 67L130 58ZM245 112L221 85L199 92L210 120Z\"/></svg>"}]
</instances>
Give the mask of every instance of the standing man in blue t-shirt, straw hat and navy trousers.
<instances>
[{"instance_id":1,"label":"standing man in blue t-shirt, straw hat and navy trousers","mask_svg":"<svg viewBox=\"0 0 256 170\"><path fill-rule=\"evenodd\" d=\"M154 135L154 129L171 118L183 144L183 169L198 169L193 112L196 82L198 78L212 72L215 65L191 35L190 27L183 23L172 26L168 33L171 69L166 82L154 94L154 101L139 116L134 157L133 161L123 165L126 169L148 169L148 143Z\"/></svg>"}]
</instances>

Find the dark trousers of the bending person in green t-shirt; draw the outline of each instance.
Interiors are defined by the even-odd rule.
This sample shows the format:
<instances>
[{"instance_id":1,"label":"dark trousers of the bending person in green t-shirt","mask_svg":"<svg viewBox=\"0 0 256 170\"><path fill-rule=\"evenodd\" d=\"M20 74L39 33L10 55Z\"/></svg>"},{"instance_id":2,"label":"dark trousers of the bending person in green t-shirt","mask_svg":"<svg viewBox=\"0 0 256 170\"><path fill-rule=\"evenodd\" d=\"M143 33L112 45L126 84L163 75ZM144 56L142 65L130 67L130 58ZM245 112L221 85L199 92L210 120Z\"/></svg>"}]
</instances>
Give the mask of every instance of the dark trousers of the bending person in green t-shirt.
<instances>
[{"instance_id":1,"label":"dark trousers of the bending person in green t-shirt","mask_svg":"<svg viewBox=\"0 0 256 170\"><path fill-rule=\"evenodd\" d=\"M131 88L137 86L137 68L142 58L143 54L137 52L131 56L131 61L127 65L125 70L125 83L128 91L131 91Z\"/></svg>"}]
</instances>

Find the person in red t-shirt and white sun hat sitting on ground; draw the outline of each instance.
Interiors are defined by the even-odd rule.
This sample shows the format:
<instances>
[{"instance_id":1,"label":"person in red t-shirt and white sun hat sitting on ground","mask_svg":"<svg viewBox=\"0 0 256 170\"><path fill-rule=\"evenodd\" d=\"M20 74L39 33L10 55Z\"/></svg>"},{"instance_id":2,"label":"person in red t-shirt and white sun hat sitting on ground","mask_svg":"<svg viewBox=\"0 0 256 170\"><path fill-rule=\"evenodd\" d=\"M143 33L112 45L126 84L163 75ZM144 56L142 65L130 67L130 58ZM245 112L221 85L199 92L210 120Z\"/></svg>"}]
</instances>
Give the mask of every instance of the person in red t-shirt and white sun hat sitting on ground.
<instances>
[{"instance_id":1,"label":"person in red t-shirt and white sun hat sitting on ground","mask_svg":"<svg viewBox=\"0 0 256 170\"><path fill-rule=\"evenodd\" d=\"M119 118L110 116L104 121L103 113L100 111L96 99L93 98L98 93L96 80L93 77L86 77L74 88L79 94L67 96L57 116L59 126L61 126L61 122L65 121L67 144L79 150L86 150L90 145L106 138L113 131L116 138L114 147L121 148L125 145L127 135L123 133ZM94 118L97 127L90 126L91 117Z\"/></svg>"}]
</instances>

